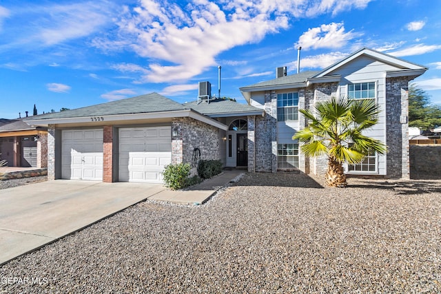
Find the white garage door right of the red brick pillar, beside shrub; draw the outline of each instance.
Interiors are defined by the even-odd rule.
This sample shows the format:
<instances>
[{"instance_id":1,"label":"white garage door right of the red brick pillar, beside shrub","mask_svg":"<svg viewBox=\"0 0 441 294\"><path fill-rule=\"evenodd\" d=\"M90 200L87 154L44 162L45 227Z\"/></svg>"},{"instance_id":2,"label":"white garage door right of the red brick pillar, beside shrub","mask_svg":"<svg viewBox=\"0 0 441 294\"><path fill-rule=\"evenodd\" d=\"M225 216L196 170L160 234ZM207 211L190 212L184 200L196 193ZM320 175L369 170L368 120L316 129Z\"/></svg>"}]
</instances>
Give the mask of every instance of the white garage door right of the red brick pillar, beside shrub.
<instances>
[{"instance_id":1,"label":"white garage door right of the red brick pillar, beside shrub","mask_svg":"<svg viewBox=\"0 0 441 294\"><path fill-rule=\"evenodd\" d=\"M172 162L171 127L119 129L119 180L162 183L164 166Z\"/></svg>"}]
</instances>

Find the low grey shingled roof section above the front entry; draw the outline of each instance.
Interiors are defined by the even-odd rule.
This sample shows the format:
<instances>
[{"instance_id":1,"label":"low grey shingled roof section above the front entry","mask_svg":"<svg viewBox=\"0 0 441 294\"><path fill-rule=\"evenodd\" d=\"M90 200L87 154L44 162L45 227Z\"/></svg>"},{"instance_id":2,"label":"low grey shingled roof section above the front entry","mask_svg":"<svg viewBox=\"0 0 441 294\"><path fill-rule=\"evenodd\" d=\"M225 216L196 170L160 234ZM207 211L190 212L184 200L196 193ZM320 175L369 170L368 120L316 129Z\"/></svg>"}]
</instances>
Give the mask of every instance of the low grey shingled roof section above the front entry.
<instances>
[{"instance_id":1,"label":"low grey shingled roof section above the front entry","mask_svg":"<svg viewBox=\"0 0 441 294\"><path fill-rule=\"evenodd\" d=\"M227 99L214 99L207 101L193 101L183 104L185 107L194 109L196 112L204 114L206 116L215 117L227 117L227 116L251 116L262 115L265 112L263 109L254 107L248 104L237 103Z\"/></svg>"}]
</instances>

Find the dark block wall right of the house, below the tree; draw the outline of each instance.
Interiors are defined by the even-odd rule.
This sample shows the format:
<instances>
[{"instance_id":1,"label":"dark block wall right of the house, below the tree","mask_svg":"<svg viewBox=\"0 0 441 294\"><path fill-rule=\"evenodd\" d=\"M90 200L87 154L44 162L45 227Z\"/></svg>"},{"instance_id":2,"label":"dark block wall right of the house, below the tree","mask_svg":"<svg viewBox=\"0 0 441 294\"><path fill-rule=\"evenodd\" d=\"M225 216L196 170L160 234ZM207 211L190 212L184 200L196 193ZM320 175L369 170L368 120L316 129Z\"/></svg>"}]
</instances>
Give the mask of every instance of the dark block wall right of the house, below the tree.
<instances>
[{"instance_id":1,"label":"dark block wall right of the house, below the tree","mask_svg":"<svg viewBox=\"0 0 441 294\"><path fill-rule=\"evenodd\" d=\"M441 146L410 145L410 177L441 179Z\"/></svg>"}]
</instances>

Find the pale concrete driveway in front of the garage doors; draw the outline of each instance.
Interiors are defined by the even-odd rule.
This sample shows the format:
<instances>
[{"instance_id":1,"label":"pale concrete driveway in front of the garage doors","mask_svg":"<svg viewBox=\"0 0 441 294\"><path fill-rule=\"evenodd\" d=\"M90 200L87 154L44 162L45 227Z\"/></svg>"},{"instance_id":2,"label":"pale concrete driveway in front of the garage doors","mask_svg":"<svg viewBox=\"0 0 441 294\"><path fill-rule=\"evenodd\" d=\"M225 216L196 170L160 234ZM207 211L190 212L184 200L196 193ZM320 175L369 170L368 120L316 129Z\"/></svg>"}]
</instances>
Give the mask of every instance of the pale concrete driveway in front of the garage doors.
<instances>
[{"instance_id":1,"label":"pale concrete driveway in front of the garage doors","mask_svg":"<svg viewBox=\"0 0 441 294\"><path fill-rule=\"evenodd\" d=\"M150 198L163 185L52 180L0 190L0 264Z\"/></svg>"}]
</instances>

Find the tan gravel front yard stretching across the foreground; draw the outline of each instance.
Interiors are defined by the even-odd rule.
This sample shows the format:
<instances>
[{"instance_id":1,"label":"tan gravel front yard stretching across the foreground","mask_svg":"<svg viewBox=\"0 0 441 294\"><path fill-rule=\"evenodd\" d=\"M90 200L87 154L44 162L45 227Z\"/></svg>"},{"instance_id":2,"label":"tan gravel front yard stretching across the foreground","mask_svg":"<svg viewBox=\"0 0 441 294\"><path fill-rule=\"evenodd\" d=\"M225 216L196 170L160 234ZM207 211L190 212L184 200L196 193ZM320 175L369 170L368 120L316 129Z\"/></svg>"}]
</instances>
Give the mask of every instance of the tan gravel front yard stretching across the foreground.
<instances>
[{"instance_id":1,"label":"tan gravel front yard stretching across the foreground","mask_svg":"<svg viewBox=\"0 0 441 294\"><path fill-rule=\"evenodd\" d=\"M0 293L441 293L441 180L248 174L201 206L137 204L0 279Z\"/></svg>"}]
</instances>

